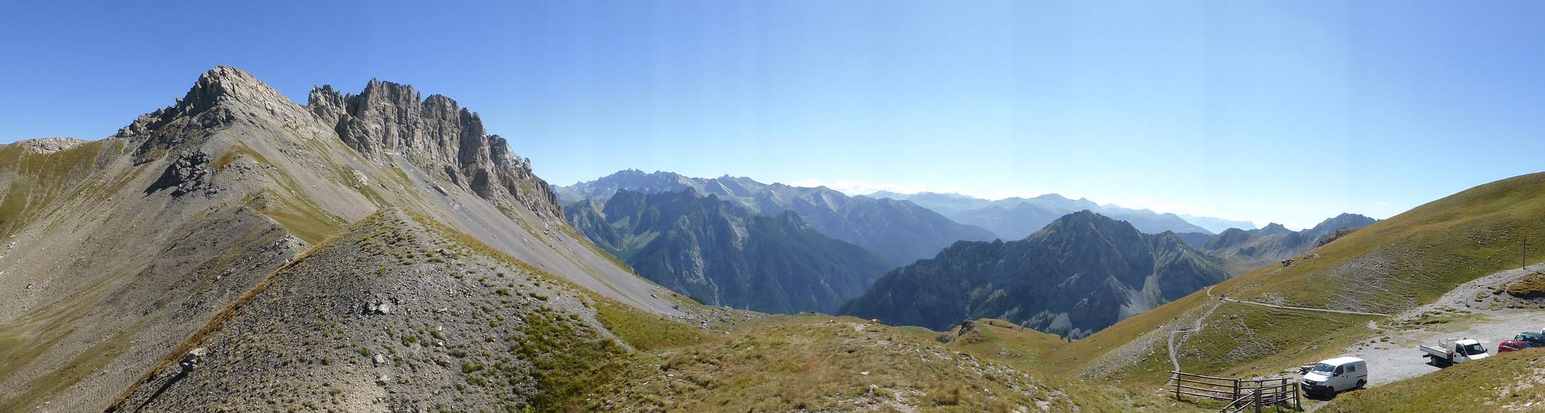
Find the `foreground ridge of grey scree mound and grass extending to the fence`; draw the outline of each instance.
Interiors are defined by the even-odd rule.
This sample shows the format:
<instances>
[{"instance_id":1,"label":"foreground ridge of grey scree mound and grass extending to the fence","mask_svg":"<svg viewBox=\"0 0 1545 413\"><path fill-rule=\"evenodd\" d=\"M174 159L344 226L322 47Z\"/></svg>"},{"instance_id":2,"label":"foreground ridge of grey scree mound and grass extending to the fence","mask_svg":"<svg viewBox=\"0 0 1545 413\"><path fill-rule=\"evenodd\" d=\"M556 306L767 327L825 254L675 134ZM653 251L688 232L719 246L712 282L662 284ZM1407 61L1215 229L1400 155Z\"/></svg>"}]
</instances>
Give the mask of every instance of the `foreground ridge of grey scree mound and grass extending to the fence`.
<instances>
[{"instance_id":1,"label":"foreground ridge of grey scree mound and grass extending to the fence","mask_svg":"<svg viewBox=\"0 0 1545 413\"><path fill-rule=\"evenodd\" d=\"M1051 354L1026 344L1055 337L1015 327L944 344L774 316L705 334L425 222L354 223L222 311L117 411L1199 411L1041 371ZM204 354L179 374L192 348Z\"/></svg>"}]
</instances>

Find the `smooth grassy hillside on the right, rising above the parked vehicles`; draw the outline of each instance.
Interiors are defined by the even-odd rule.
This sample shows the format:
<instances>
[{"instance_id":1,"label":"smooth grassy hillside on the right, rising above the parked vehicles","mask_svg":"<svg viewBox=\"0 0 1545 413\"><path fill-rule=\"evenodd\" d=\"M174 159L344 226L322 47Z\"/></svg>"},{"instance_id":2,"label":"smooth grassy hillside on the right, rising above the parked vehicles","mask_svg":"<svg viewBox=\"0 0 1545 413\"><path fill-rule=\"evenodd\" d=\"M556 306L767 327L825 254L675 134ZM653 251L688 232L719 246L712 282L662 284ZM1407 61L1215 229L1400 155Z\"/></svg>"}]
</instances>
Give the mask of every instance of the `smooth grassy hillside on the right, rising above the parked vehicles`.
<instances>
[{"instance_id":1,"label":"smooth grassy hillside on the right, rising above the parked vehicles","mask_svg":"<svg viewBox=\"0 0 1545 413\"><path fill-rule=\"evenodd\" d=\"M1525 231L1545 230L1545 174L1480 185L1417 206L1313 248L1292 267L1264 267L1213 288L1213 294L1279 305L1397 313L1431 302L1455 285L1522 265ZM1085 341L1092 354L1069 361L1091 376L1162 382L1170 370L1165 337L1190 328L1216 305L1205 291L1129 317ZM1370 316L1304 313L1224 304L1210 328L1180 347L1193 373L1276 373L1333 356L1364 337Z\"/></svg>"}]
</instances>

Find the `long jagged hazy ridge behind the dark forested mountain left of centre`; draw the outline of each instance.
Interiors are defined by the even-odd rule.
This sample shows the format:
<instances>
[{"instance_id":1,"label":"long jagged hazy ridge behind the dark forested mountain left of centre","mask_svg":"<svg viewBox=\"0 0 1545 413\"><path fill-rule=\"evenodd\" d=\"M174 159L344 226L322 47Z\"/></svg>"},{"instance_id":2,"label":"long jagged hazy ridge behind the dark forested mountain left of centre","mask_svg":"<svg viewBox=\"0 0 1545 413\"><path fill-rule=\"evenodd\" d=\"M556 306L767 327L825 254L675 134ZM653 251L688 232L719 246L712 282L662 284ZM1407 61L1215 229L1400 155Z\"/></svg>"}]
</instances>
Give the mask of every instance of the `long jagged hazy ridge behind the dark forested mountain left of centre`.
<instances>
[{"instance_id":1,"label":"long jagged hazy ridge behind the dark forested mountain left of centre","mask_svg":"<svg viewBox=\"0 0 1545 413\"><path fill-rule=\"evenodd\" d=\"M769 185L746 177L698 179L627 170L555 191L561 200L576 202L606 200L621 190L652 194L686 188L718 196L757 214L779 216L793 211L816 231L873 251L890 265L930 257L956 240L993 239L987 230L956 223L912 202L850 197L825 186Z\"/></svg>"}]
</instances>

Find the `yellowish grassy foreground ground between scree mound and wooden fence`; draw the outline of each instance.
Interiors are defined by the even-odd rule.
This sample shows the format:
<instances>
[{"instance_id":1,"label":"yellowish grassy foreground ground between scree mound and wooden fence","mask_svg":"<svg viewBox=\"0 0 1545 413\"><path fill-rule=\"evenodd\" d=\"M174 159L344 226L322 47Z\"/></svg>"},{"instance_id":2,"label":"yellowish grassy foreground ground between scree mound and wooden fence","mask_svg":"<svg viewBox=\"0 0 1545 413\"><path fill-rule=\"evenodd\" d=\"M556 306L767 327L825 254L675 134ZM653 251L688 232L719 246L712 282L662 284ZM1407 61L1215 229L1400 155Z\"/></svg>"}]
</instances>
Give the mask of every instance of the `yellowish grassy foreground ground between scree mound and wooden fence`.
<instances>
[{"instance_id":1,"label":"yellowish grassy foreground ground between scree mound and wooden fence","mask_svg":"<svg viewBox=\"0 0 1545 413\"><path fill-rule=\"evenodd\" d=\"M650 353L596 393L615 411L1205 411L1044 370L1040 361L1055 354L1026 344L1055 336L978 330L944 344L916 327L772 316Z\"/></svg>"}]
</instances>

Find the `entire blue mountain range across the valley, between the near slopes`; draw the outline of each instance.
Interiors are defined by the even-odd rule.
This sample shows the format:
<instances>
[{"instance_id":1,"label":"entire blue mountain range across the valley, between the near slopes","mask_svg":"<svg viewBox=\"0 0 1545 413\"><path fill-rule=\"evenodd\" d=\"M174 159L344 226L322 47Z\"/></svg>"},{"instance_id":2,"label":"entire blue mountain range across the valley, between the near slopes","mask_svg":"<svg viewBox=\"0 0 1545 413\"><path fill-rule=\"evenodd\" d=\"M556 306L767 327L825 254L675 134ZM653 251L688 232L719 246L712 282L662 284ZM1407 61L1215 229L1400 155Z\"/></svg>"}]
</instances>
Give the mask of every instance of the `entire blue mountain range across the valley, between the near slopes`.
<instances>
[{"instance_id":1,"label":"entire blue mountain range across the valley, between the near slopes","mask_svg":"<svg viewBox=\"0 0 1545 413\"><path fill-rule=\"evenodd\" d=\"M555 193L592 242L705 304L933 330L1000 317L1074 337L1375 222L1341 214L1292 231L1190 216L1250 227L1213 234L1177 214L1060 194L850 197L637 170Z\"/></svg>"}]
</instances>

